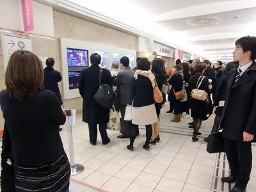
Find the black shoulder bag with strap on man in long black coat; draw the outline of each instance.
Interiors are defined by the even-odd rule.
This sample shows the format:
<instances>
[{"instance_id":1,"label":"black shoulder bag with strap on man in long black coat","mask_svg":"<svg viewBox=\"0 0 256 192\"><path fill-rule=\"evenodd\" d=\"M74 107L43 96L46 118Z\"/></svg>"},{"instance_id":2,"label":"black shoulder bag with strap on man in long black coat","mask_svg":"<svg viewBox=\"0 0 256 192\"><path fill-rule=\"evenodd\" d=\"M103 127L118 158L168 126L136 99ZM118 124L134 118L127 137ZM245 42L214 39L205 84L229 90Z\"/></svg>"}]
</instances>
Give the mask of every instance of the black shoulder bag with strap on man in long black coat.
<instances>
[{"instance_id":1,"label":"black shoulder bag with strap on man in long black coat","mask_svg":"<svg viewBox=\"0 0 256 192\"><path fill-rule=\"evenodd\" d=\"M93 98L102 108L111 109L116 97L116 93L113 88L109 86L109 84L100 84L101 76L102 68L100 68L99 89Z\"/></svg>"}]
</instances>

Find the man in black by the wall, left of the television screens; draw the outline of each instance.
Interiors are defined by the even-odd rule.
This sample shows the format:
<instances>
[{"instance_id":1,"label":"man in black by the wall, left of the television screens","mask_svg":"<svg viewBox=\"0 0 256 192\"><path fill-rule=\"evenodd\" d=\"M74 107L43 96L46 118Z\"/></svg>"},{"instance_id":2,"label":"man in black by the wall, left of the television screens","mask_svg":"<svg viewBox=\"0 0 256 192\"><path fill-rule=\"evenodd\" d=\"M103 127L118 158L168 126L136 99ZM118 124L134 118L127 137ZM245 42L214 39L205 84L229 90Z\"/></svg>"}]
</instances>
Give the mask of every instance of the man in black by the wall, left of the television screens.
<instances>
[{"instance_id":1,"label":"man in black by the wall, left of the television screens","mask_svg":"<svg viewBox=\"0 0 256 192\"><path fill-rule=\"evenodd\" d=\"M62 105L60 88L58 86L58 82L62 80L60 72L54 70L54 58L47 58L45 61L46 67L44 68L44 88L45 90L50 90L56 94L56 97L60 101ZM62 131L62 128L59 127L59 131Z\"/></svg>"}]
</instances>

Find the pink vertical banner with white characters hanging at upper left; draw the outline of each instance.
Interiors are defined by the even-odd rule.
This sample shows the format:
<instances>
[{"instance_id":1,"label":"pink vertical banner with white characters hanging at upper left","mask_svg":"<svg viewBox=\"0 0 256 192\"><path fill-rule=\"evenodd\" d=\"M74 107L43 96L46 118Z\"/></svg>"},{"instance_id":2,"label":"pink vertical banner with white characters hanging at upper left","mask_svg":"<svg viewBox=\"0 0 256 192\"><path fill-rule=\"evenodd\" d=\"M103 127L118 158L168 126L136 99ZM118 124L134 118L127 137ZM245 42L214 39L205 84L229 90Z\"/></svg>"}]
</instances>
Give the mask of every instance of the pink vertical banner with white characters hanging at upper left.
<instances>
[{"instance_id":1,"label":"pink vertical banner with white characters hanging at upper left","mask_svg":"<svg viewBox=\"0 0 256 192\"><path fill-rule=\"evenodd\" d=\"M32 0L21 0L24 31L34 29Z\"/></svg>"}]
</instances>

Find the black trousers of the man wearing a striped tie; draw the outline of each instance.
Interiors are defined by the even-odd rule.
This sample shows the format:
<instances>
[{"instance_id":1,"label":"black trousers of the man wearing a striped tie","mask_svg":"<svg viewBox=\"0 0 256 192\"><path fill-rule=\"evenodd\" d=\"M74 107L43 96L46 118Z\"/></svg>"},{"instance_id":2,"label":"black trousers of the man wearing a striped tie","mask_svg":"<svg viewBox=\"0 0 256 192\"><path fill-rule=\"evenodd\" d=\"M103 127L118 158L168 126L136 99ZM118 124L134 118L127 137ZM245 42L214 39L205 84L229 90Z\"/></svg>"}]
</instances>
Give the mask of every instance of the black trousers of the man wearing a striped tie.
<instances>
[{"instance_id":1,"label":"black trousers of the man wearing a striped tie","mask_svg":"<svg viewBox=\"0 0 256 192\"><path fill-rule=\"evenodd\" d=\"M252 170L252 143L225 139L225 153L236 186L246 188Z\"/></svg>"}]
</instances>

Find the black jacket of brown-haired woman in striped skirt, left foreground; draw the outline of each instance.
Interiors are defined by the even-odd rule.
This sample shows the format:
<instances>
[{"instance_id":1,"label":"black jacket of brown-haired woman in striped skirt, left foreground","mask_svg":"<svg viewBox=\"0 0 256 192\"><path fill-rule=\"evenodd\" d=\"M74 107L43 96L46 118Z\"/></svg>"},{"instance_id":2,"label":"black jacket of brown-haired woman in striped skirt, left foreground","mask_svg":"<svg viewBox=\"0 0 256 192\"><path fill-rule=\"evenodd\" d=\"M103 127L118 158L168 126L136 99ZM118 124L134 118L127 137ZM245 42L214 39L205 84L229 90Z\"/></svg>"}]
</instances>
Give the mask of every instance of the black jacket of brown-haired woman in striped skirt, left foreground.
<instances>
[{"instance_id":1,"label":"black jacket of brown-haired woman in striped skirt, left foreground","mask_svg":"<svg viewBox=\"0 0 256 192\"><path fill-rule=\"evenodd\" d=\"M58 128L66 116L54 93L42 90L20 101L3 90L0 104L16 164L51 163L65 154Z\"/></svg>"}]
</instances>

